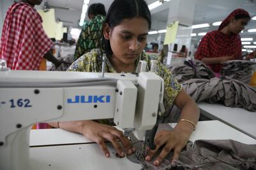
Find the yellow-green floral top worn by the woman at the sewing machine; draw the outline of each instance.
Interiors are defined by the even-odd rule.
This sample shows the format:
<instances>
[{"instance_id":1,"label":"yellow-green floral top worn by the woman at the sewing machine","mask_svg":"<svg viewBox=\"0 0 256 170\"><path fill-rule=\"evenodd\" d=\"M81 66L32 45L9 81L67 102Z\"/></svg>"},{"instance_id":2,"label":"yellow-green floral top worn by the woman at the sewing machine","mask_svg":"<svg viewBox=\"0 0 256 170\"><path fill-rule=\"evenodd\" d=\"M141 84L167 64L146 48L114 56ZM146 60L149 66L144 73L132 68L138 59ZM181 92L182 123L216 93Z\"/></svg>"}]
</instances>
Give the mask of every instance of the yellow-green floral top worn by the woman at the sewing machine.
<instances>
[{"instance_id":1,"label":"yellow-green floral top worn by the woman at the sewing machine","mask_svg":"<svg viewBox=\"0 0 256 170\"><path fill-rule=\"evenodd\" d=\"M77 59L72 65L68 68L67 71L71 72L101 72L102 70L102 56L104 54L104 50L101 49L93 49L91 52L88 52L81 56L81 58ZM147 61L147 71L150 68L150 61L154 59L157 60L157 56L149 56L145 52L142 52L140 58L136 60L136 66L140 60ZM182 86L177 82L177 80L173 77L172 73L164 67L164 65L160 62L157 63L157 75L164 79L164 107L168 108L173 103L178 93L181 91ZM111 65L109 59L106 59L106 68L105 72L116 73L115 68ZM134 70L135 72L135 70ZM102 121L100 121L102 122ZM102 123L107 123L103 121ZM112 124L112 123L111 123Z\"/></svg>"}]
</instances>

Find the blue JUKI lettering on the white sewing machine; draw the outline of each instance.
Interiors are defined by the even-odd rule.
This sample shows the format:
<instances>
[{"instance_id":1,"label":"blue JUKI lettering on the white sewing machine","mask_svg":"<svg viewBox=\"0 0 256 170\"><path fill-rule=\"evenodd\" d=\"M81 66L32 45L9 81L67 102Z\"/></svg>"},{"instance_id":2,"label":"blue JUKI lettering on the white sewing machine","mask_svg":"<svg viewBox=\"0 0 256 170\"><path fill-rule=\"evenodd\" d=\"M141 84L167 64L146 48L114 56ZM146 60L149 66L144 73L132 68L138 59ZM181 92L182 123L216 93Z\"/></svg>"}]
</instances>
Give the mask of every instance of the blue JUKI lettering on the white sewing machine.
<instances>
[{"instance_id":1,"label":"blue JUKI lettering on the white sewing machine","mask_svg":"<svg viewBox=\"0 0 256 170\"><path fill-rule=\"evenodd\" d=\"M101 95L101 96L75 96L74 100L72 98L67 99L68 104L85 104L85 103L109 103L110 96L109 95Z\"/></svg>"}]
</instances>

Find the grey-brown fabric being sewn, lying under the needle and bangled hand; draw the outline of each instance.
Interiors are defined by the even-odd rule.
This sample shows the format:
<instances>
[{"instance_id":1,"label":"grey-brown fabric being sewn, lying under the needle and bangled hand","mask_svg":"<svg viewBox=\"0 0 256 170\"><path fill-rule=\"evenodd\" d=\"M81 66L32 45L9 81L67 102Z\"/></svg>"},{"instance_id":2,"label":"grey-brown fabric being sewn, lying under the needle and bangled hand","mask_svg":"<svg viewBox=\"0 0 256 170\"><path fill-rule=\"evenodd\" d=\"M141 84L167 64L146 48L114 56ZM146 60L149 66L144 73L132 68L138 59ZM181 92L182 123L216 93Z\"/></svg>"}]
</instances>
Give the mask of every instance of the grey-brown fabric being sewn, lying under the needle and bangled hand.
<instances>
[{"instance_id":1,"label":"grey-brown fabric being sewn, lying under the needle and bangled hand","mask_svg":"<svg viewBox=\"0 0 256 170\"><path fill-rule=\"evenodd\" d=\"M159 124L158 130L172 130L168 124ZM142 142L131 135L133 146L140 150ZM243 144L233 140L198 140L190 141L180 153L179 160L171 165L173 151L164 158L160 166L154 166L151 161L136 160L143 165L142 169L256 169L256 144ZM135 153L127 158L136 159Z\"/></svg>"}]
</instances>

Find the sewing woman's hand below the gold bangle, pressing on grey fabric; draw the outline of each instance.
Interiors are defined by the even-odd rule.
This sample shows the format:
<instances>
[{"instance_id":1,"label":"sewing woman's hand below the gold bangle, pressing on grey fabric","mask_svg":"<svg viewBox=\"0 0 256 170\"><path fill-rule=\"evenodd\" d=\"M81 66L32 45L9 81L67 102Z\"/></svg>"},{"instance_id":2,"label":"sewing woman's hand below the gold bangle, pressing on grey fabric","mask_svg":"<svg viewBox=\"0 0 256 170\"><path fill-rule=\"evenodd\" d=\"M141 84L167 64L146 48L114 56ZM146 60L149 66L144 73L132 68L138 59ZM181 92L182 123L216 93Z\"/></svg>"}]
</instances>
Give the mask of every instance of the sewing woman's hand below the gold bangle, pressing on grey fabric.
<instances>
[{"instance_id":1,"label":"sewing woman's hand below the gold bangle, pressing on grey fabric","mask_svg":"<svg viewBox=\"0 0 256 170\"><path fill-rule=\"evenodd\" d=\"M156 150L148 151L145 159L151 160L151 158L156 154L157 150L159 150L159 148L165 144L159 156L154 160L154 165L159 166L164 157L166 157L166 155L168 155L172 149L174 150L174 154L172 160L170 161L172 161L173 164L174 160L179 158L180 151L188 142L189 136L189 133L186 133L184 130L179 128L175 128L174 130L161 130L157 132L154 140L156 143Z\"/></svg>"}]
</instances>

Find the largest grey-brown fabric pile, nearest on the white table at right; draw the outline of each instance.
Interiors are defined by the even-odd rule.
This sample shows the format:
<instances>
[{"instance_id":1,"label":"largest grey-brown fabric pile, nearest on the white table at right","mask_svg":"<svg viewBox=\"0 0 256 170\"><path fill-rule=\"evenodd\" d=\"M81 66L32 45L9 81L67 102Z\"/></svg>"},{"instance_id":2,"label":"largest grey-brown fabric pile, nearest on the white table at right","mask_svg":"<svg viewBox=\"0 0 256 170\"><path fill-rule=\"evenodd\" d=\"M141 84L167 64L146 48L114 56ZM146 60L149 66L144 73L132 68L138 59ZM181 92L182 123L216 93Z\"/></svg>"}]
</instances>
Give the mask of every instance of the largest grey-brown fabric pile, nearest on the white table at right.
<instances>
[{"instance_id":1,"label":"largest grey-brown fabric pile, nearest on the white table at right","mask_svg":"<svg viewBox=\"0 0 256 170\"><path fill-rule=\"evenodd\" d=\"M182 82L182 88L196 102L220 102L227 107L243 107L248 111L256 111L256 88L230 77L191 79Z\"/></svg>"}]
</instances>

